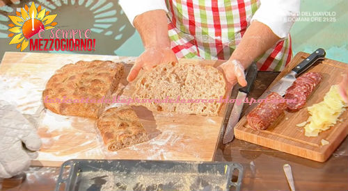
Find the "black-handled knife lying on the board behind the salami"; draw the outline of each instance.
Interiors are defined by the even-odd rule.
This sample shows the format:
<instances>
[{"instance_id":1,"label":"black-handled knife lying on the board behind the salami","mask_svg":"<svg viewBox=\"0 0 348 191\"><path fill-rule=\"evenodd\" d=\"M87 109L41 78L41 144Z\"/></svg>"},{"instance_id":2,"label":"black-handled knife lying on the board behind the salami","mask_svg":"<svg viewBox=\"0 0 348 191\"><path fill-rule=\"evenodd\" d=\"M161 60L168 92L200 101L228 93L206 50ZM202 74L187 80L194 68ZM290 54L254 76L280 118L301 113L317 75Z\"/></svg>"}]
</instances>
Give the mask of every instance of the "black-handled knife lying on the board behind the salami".
<instances>
[{"instance_id":1,"label":"black-handled knife lying on the board behind the salami","mask_svg":"<svg viewBox=\"0 0 348 191\"><path fill-rule=\"evenodd\" d=\"M280 96L284 96L287 88L289 88L292 83L296 80L296 77L305 72L318 60L324 60L326 52L324 49L317 49L315 52L310 54L305 60L303 60L299 65L294 67L291 72L286 74L280 79L275 85L273 85L269 90L265 91L258 99L265 99L271 92L276 92Z\"/></svg>"}]
</instances>

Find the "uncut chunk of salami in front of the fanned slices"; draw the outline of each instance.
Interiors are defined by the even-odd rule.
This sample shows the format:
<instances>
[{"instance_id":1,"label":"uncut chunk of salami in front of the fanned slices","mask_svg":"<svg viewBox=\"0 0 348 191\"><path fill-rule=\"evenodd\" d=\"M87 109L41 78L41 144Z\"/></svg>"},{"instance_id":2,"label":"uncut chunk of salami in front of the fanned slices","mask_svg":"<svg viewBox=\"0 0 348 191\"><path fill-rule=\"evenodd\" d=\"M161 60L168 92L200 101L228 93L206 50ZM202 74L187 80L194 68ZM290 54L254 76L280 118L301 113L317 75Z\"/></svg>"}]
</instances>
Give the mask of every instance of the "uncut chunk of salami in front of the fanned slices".
<instances>
[{"instance_id":1,"label":"uncut chunk of salami in front of the fanned slices","mask_svg":"<svg viewBox=\"0 0 348 191\"><path fill-rule=\"evenodd\" d=\"M267 129L285 109L285 99L280 94L271 92L267 97L267 102L260 103L246 116L248 125L255 130Z\"/></svg>"}]
</instances>

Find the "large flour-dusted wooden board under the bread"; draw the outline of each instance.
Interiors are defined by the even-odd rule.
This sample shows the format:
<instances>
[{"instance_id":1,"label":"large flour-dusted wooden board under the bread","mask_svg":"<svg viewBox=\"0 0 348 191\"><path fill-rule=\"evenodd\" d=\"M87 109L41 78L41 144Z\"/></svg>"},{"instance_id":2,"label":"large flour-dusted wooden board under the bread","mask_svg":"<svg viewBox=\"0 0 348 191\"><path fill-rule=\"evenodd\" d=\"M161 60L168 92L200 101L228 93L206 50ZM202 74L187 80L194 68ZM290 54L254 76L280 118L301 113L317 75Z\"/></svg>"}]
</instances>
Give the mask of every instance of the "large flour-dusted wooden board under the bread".
<instances>
[{"instance_id":1,"label":"large flour-dusted wooden board under the bread","mask_svg":"<svg viewBox=\"0 0 348 191\"><path fill-rule=\"evenodd\" d=\"M217 117L166 115L136 107L136 114L150 134L150 141L116 152L106 151L100 136L97 135L94 120L57 115L44 110L42 90L45 89L45 83L56 69L79 60L125 62L125 74L122 76L119 90L122 90L121 97L129 97L132 93L134 83L127 83L125 78L134 63L134 58L17 52L6 52L3 56L0 65L0 99L15 104L23 114L38 116L38 133L42 139L42 148L32 165L60 166L65 160L72 158L213 160L226 106L223 106ZM223 62L192 59L189 61L214 66Z\"/></svg>"}]
</instances>

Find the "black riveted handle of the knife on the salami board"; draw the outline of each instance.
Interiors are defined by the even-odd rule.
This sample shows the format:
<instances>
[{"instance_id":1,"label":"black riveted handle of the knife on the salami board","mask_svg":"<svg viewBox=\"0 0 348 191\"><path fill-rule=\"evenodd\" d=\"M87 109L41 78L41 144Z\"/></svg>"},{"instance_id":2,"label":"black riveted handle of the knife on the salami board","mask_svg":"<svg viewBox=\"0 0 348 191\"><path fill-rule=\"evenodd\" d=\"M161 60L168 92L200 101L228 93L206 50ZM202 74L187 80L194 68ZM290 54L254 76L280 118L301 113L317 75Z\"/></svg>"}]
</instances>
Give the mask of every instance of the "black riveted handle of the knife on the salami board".
<instances>
[{"instance_id":1,"label":"black riveted handle of the knife on the salami board","mask_svg":"<svg viewBox=\"0 0 348 191\"><path fill-rule=\"evenodd\" d=\"M294 67L292 71L296 72L296 76L299 76L305 72L309 67L311 67L317 60L322 60L325 58L326 52L324 49L317 49L315 52L310 54L305 60L303 60L299 65Z\"/></svg>"}]
</instances>

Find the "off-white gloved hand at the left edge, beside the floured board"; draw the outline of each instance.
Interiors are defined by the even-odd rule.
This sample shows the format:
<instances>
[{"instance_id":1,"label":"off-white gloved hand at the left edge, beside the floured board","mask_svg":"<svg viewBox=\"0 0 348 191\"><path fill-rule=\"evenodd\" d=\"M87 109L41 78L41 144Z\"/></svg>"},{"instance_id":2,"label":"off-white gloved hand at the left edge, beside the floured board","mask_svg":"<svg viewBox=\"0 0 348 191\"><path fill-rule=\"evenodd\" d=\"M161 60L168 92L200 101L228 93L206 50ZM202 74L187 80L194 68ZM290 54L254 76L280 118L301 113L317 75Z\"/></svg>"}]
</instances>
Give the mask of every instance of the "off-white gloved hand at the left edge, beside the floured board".
<instances>
[{"instance_id":1,"label":"off-white gloved hand at the left edge, beside the floured board","mask_svg":"<svg viewBox=\"0 0 348 191\"><path fill-rule=\"evenodd\" d=\"M15 106L0 100L0 178L10 178L29 167L40 147L35 127Z\"/></svg>"}]
</instances>

